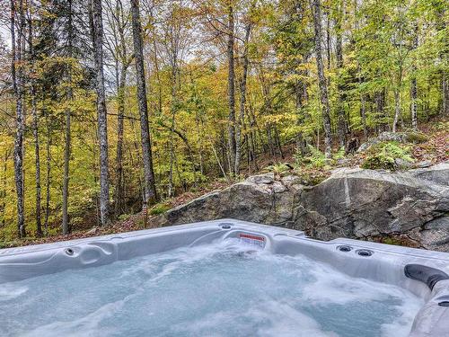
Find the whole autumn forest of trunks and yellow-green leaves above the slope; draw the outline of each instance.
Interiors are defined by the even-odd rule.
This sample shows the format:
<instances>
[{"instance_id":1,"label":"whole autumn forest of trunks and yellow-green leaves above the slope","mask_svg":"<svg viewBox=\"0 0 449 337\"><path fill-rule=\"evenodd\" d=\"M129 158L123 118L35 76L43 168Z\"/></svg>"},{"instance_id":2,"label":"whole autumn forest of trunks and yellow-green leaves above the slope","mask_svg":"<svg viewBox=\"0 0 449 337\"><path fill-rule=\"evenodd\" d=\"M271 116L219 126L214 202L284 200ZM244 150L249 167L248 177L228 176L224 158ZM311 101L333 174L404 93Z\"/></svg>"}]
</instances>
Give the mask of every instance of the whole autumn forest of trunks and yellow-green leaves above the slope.
<instances>
[{"instance_id":1,"label":"whole autumn forest of trunks and yellow-green leaves above the slope","mask_svg":"<svg viewBox=\"0 0 449 337\"><path fill-rule=\"evenodd\" d=\"M445 0L0 0L0 242L449 115ZM156 208L155 211L158 211Z\"/></svg>"}]
</instances>

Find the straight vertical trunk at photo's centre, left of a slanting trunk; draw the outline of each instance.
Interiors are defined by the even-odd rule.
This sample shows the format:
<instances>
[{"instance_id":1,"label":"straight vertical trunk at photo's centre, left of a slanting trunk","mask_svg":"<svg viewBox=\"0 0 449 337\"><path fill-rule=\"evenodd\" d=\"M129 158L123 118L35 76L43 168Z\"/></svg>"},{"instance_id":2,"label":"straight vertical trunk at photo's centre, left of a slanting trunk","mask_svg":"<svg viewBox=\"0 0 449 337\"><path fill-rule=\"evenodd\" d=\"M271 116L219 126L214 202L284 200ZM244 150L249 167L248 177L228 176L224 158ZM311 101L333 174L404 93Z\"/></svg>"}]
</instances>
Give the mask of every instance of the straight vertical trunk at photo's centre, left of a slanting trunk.
<instances>
[{"instance_id":1,"label":"straight vertical trunk at photo's centre, left of a slanting trunk","mask_svg":"<svg viewBox=\"0 0 449 337\"><path fill-rule=\"evenodd\" d=\"M233 172L233 163L235 157L235 89L234 77L235 68L233 60L233 41L234 41L234 27L233 27L233 5L232 0L229 0L228 6L228 40L227 40L227 58L228 58L228 103L229 103L229 172Z\"/></svg>"}]
</instances>

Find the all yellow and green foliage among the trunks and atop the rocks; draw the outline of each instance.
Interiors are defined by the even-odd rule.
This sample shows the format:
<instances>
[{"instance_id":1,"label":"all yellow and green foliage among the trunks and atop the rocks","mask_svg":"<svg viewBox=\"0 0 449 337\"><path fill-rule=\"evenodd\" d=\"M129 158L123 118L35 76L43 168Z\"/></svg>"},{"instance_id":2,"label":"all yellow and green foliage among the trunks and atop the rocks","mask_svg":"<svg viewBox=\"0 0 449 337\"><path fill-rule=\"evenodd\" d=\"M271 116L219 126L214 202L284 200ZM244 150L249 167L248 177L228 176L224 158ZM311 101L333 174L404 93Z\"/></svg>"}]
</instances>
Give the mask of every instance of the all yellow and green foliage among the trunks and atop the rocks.
<instances>
[{"instance_id":1,"label":"all yellow and green foliage among the trunks and atop the rocks","mask_svg":"<svg viewBox=\"0 0 449 337\"><path fill-rule=\"evenodd\" d=\"M171 3L170 3L171 4ZM293 145L298 139L308 144L305 155L295 154L298 173L307 184L319 183L323 173L344 158L339 149L333 159L311 144L322 144L322 104L316 69L313 16L305 0L278 2L240 2L235 4L236 30L235 62L235 116L239 123L231 125L228 106L228 62L217 57L222 40L211 39L216 31L210 22L219 22L227 13L225 2L209 1L198 4L156 2L152 13L141 8L147 31L144 41L145 65L150 72L147 81L147 102L151 129L154 176L157 192L164 200L185 191L201 191L205 182L239 180L234 176L229 151L229 130L242 126L241 173L254 173L268 160L279 159L277 148ZM180 7L178 7L180 5ZM201 8L196 8L199 5ZM207 15L204 20L207 6ZM336 1L323 2L323 12L330 19L329 37L332 47L339 33L343 36L343 65L338 67L336 48L326 53L323 61L329 84L330 120L333 137L338 130L341 110L351 137L366 129L369 134L391 129L395 107L401 111L400 120L410 126L410 87L418 85L418 128L420 124L438 115L443 107L441 83L449 70L449 35L445 0L417 1ZM343 6L341 8L340 6ZM78 6L76 6L78 8ZM74 7L75 11L78 11ZM121 8L121 6L120 6ZM176 9L178 8L178 9ZM38 134L40 141L40 187L42 191L42 222L45 221L48 191L48 235L61 232L62 186L65 148L66 111L72 111L71 160L68 213L73 229L96 223L99 198L99 144L95 74L86 62L89 49L83 39L89 37L88 27L75 24L73 58L67 58L67 11L59 11L59 4L38 2L31 13L32 41L35 42L35 73L31 74L31 53L25 50L21 65L24 71L25 111L23 172L25 181L25 223L28 235L36 231L36 182L31 115L31 78L36 80ZM114 59L124 51L131 55L132 30L128 24L128 4L123 13L105 16L105 29L110 41L122 40L125 48L112 43L104 50L108 66L108 140L110 164L110 198L115 198L118 181L116 154L118 150L119 93L113 83L115 70L124 68L123 59ZM176 9L172 12L172 9ZM201 9L201 10L199 10ZM28 10L28 9L27 9ZM118 9L121 11L121 9ZM199 13L199 14L198 14ZM75 17L82 17L75 13ZM197 16L199 15L199 16ZM214 17L216 15L216 17ZM341 15L343 17L341 17ZM113 18L125 20L120 24ZM114 19L114 20L116 20ZM217 21L216 21L217 20ZM342 20L340 22L340 20ZM325 22L326 20L322 20ZM204 22L204 23L202 23ZM208 22L208 23L207 23ZM248 45L243 44L242 28L251 23ZM114 26L110 26L114 24ZM118 28L125 28L119 37ZM212 31L211 31L212 30ZM418 34L418 46L414 45ZM191 37L205 41L198 49ZM182 43L174 42L179 39ZM172 59L173 46L177 59ZM85 49L85 50L84 50ZM242 56L248 51L249 69L246 84L246 102L240 116ZM118 69L114 69L116 62ZM8 46L0 38L0 79L10 83L11 57ZM128 79L134 70L128 67ZM68 79L68 70L70 78ZM174 78L173 78L174 76ZM67 99L67 89L73 89L73 100ZM131 214L141 209L143 189L142 149L140 146L139 114L135 81L126 81L125 120L123 134L123 212ZM0 240L12 240L16 235L16 195L13 169L13 129L15 101L11 91L0 97ZM362 117L362 111L365 112ZM440 122L436 129L447 130L449 123ZM410 143L427 140L427 135L407 130ZM334 144L335 146L335 144ZM435 145L434 147L436 147ZM253 148L252 148L253 147ZM47 150L48 148L48 150ZM396 144L374 146L367 153L364 167L396 169L394 159L411 161L409 149ZM259 159L255 163L253 158ZM47 177L48 163L48 181ZM248 167L248 164L250 167ZM277 176L291 168L284 163L272 164L265 170ZM225 173L225 174L224 174ZM170 194L170 195L169 195ZM112 200L116 201L116 200ZM165 211L163 203L154 206L150 214ZM121 219L128 215L120 216Z\"/></svg>"}]
</instances>

